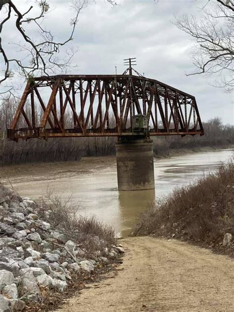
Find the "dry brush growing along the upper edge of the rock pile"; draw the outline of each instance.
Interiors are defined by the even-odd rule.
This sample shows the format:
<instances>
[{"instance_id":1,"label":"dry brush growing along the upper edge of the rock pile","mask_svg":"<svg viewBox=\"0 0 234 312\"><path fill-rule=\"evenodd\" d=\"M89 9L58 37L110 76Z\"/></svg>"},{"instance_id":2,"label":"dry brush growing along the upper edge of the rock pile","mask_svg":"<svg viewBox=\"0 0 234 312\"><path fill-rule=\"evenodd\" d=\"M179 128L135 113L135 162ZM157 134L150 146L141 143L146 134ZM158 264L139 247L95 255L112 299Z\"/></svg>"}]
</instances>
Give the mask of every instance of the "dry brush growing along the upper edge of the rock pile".
<instances>
[{"instance_id":1,"label":"dry brush growing along the upper edge of the rock pile","mask_svg":"<svg viewBox=\"0 0 234 312\"><path fill-rule=\"evenodd\" d=\"M78 205L70 204L70 198L62 201L60 196L51 192L47 192L39 204L40 216L57 232L81 245L80 248L86 257L94 258L98 250L110 250L117 243L115 231L94 216L80 216L78 209Z\"/></svg>"}]
</instances>

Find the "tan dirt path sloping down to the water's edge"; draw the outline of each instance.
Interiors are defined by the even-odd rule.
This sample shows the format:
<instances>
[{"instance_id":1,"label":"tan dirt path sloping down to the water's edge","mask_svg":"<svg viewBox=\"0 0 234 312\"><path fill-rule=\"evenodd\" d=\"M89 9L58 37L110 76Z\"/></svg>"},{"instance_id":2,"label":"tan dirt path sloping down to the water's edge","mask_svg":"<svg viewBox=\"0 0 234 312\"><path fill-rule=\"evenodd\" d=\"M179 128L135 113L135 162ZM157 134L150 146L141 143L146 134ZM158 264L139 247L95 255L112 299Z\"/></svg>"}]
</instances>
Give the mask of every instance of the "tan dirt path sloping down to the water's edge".
<instances>
[{"instance_id":1,"label":"tan dirt path sloping down to the water's edge","mask_svg":"<svg viewBox=\"0 0 234 312\"><path fill-rule=\"evenodd\" d=\"M115 278L91 285L60 312L234 311L234 261L176 240L131 237Z\"/></svg>"}]
</instances>

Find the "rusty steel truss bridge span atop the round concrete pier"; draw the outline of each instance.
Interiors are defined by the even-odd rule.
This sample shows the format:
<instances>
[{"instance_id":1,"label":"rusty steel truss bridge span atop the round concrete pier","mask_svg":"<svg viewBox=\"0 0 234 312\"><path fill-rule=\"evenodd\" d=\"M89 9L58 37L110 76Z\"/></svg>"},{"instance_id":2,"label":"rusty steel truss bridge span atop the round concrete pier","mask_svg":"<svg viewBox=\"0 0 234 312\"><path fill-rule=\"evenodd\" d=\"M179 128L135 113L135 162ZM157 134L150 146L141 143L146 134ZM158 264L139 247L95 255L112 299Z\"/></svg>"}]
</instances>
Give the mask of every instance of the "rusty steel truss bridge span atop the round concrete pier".
<instances>
[{"instance_id":1,"label":"rusty steel truss bridge span atop the round concrete pier","mask_svg":"<svg viewBox=\"0 0 234 312\"><path fill-rule=\"evenodd\" d=\"M204 134L194 96L143 77L130 63L122 75L31 78L7 135L15 141L139 136L132 122L138 114L147 117L149 135Z\"/></svg>"}]
</instances>

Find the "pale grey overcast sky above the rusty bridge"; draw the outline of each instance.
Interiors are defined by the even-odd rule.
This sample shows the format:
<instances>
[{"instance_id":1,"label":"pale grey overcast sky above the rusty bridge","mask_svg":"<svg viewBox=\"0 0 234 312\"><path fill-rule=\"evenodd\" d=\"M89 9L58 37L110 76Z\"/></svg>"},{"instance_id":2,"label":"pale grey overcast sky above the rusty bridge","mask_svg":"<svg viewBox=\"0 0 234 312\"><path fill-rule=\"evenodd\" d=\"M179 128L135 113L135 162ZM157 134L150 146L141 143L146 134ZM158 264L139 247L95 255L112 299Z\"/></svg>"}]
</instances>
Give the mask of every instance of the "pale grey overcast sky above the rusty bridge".
<instances>
[{"instance_id":1,"label":"pale grey overcast sky above the rusty bridge","mask_svg":"<svg viewBox=\"0 0 234 312\"><path fill-rule=\"evenodd\" d=\"M16 1L18 2L18 1ZM25 7L32 1L21 0ZM51 0L53 10L45 23L57 38L66 37L69 20L74 14L69 1ZM78 48L73 59L76 74L117 74L125 70L123 59L137 58L136 70L184 92L195 95L203 121L221 117L224 123L234 124L233 94L210 84L210 78L186 77L193 72L190 59L193 42L190 36L172 24L173 14L199 15L206 0L119 0L112 7L105 0L89 1L82 10L73 46ZM16 39L8 29L8 36ZM13 51L13 48L12 48Z\"/></svg>"}]
</instances>

